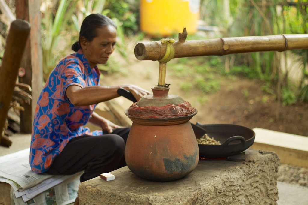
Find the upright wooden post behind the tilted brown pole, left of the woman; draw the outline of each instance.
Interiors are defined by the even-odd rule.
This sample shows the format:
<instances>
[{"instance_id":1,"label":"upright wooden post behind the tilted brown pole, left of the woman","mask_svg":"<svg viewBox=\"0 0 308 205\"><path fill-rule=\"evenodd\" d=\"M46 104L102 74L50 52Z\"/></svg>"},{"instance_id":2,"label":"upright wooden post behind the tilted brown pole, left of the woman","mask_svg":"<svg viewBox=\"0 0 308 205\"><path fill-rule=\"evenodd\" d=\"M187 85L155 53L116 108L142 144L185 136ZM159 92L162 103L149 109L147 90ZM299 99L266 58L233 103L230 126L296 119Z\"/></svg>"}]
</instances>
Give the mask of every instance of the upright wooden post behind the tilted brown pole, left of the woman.
<instances>
[{"instance_id":1,"label":"upright wooden post behind the tilted brown pole, left of the woman","mask_svg":"<svg viewBox=\"0 0 308 205\"><path fill-rule=\"evenodd\" d=\"M41 46L41 12L39 0L16 0L16 18L30 22L31 31L27 41L21 67L25 75L19 77L19 82L30 85L32 92L25 90L32 96L30 104L22 103L25 111L20 113L20 132L31 133L36 101L43 87L43 65Z\"/></svg>"}]
</instances>

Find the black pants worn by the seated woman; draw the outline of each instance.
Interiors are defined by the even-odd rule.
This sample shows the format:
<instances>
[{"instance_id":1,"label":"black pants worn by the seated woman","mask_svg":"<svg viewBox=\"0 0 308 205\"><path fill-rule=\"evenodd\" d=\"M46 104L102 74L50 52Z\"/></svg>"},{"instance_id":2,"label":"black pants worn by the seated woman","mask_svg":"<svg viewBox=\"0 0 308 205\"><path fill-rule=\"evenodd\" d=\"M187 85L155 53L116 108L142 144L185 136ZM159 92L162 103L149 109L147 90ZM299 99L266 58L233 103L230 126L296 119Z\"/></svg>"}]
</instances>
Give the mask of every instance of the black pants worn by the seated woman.
<instances>
[{"instance_id":1,"label":"black pants worn by the seated woman","mask_svg":"<svg viewBox=\"0 0 308 205\"><path fill-rule=\"evenodd\" d=\"M124 148L130 128L103 136L78 136L69 141L46 173L72 175L84 171L80 182L126 166Z\"/></svg>"}]
</instances>

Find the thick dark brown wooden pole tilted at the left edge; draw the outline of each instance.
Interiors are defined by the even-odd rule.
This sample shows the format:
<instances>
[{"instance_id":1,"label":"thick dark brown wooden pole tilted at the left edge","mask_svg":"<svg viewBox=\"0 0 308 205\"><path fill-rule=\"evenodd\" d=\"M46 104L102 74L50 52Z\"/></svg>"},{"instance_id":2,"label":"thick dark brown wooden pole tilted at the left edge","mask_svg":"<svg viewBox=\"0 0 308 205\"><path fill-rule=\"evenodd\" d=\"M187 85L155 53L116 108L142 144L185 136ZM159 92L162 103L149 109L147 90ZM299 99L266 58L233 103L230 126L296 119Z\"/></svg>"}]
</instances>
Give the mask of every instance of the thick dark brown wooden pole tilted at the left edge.
<instances>
[{"instance_id":1,"label":"thick dark brown wooden pole tilted at the left edge","mask_svg":"<svg viewBox=\"0 0 308 205\"><path fill-rule=\"evenodd\" d=\"M0 68L0 142L29 33L29 22L17 19L11 23L6 39Z\"/></svg>"}]
</instances>

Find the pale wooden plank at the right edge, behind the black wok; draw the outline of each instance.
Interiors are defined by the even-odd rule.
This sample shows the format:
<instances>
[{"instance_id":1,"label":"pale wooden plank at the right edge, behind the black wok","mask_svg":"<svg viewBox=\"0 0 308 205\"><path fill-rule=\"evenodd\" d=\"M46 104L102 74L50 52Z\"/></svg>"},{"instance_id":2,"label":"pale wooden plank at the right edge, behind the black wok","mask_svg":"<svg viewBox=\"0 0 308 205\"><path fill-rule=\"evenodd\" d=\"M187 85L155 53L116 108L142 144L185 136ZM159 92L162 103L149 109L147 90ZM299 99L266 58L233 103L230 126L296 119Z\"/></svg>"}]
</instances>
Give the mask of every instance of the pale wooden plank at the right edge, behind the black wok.
<instances>
[{"instance_id":1,"label":"pale wooden plank at the right edge, behind the black wok","mask_svg":"<svg viewBox=\"0 0 308 205\"><path fill-rule=\"evenodd\" d=\"M256 133L251 148L276 152L280 163L308 168L308 137L253 128Z\"/></svg>"}]
</instances>

